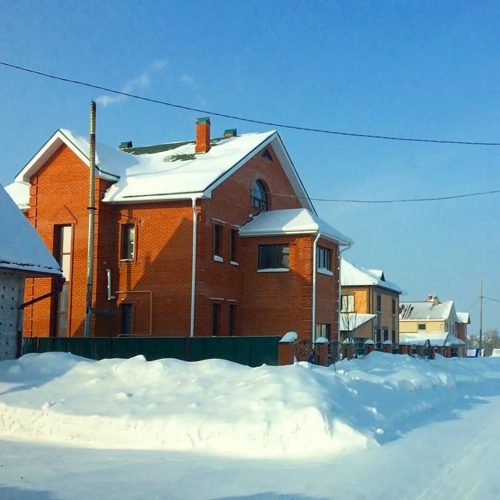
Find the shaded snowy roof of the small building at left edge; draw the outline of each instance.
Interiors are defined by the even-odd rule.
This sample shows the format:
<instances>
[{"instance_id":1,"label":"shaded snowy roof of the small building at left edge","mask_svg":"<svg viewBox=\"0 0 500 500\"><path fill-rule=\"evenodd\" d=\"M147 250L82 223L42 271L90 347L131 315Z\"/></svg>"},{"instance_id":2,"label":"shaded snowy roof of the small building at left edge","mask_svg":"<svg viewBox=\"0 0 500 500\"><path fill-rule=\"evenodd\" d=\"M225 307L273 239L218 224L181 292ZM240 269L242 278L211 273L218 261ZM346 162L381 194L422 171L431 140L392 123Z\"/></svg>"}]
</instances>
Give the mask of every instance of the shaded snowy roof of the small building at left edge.
<instances>
[{"instance_id":1,"label":"shaded snowy roof of the small building at left edge","mask_svg":"<svg viewBox=\"0 0 500 500\"><path fill-rule=\"evenodd\" d=\"M45 243L0 184L0 268L60 275Z\"/></svg>"}]
</instances>

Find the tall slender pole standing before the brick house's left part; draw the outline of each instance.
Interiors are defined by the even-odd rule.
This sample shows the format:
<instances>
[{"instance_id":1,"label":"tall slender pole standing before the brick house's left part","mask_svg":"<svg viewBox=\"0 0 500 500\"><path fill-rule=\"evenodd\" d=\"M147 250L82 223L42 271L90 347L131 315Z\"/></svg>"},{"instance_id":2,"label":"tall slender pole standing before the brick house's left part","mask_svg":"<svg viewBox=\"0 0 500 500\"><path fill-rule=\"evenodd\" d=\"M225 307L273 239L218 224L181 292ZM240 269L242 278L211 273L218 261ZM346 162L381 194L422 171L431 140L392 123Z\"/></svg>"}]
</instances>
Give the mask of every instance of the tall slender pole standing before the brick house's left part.
<instances>
[{"instance_id":1,"label":"tall slender pole standing before the brick house's left part","mask_svg":"<svg viewBox=\"0 0 500 500\"><path fill-rule=\"evenodd\" d=\"M87 298L85 306L85 332L90 336L90 317L92 314L92 279L93 279L93 245L95 216L95 101L90 101L90 179L88 183L88 251L87 251Z\"/></svg>"}]
</instances>

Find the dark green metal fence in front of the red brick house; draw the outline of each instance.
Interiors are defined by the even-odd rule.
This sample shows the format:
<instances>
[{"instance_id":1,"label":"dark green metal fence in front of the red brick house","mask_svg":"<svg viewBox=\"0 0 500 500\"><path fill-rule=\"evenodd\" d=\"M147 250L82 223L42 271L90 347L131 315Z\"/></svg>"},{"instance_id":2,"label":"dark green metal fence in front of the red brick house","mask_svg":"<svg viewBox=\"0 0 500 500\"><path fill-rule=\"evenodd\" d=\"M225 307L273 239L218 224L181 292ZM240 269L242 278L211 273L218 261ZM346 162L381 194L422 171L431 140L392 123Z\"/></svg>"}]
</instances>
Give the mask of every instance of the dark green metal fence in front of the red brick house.
<instances>
[{"instance_id":1,"label":"dark green metal fence in front of the red brick house","mask_svg":"<svg viewBox=\"0 0 500 500\"><path fill-rule=\"evenodd\" d=\"M227 359L248 366L278 364L279 336L251 337L24 337L22 354L71 352L89 359L143 354L148 361Z\"/></svg>"}]
</instances>

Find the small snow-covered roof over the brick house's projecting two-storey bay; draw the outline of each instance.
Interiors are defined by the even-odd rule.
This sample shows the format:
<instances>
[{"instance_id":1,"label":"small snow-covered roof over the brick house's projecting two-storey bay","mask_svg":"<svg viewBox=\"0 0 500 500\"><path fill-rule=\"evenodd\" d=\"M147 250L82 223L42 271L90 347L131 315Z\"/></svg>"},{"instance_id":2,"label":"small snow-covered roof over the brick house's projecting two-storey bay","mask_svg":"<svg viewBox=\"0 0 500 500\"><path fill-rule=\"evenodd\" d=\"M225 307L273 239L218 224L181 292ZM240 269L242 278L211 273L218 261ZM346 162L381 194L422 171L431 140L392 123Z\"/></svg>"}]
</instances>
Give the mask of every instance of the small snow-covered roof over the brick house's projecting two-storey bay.
<instances>
[{"instance_id":1,"label":"small snow-covered roof over the brick house's projecting two-storey bay","mask_svg":"<svg viewBox=\"0 0 500 500\"><path fill-rule=\"evenodd\" d=\"M315 234L339 243L352 240L305 208L263 211L239 229L240 236L271 236L282 234Z\"/></svg>"}]
</instances>

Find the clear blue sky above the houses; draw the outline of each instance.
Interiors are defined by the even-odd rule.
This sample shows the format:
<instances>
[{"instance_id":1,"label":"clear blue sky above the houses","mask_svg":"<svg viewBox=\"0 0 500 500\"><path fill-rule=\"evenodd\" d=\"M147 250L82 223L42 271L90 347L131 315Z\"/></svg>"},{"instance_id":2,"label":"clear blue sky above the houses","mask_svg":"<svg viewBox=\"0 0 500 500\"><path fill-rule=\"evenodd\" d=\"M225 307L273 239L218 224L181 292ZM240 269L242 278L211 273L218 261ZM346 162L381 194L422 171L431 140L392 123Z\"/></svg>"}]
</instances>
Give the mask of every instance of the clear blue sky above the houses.
<instances>
[{"instance_id":1,"label":"clear blue sky above the houses","mask_svg":"<svg viewBox=\"0 0 500 500\"><path fill-rule=\"evenodd\" d=\"M1 59L145 96L265 121L369 134L499 142L500 4L494 1L2 2ZM105 92L0 67L0 182L51 133L86 133ZM193 138L196 112L123 99L97 106L97 138ZM212 117L212 133L269 129ZM431 197L500 188L500 146L279 130L311 197ZM351 261L407 292L500 298L499 194L404 204L316 202L355 240ZM477 304L470 332L478 328ZM484 302L484 329L500 304Z\"/></svg>"}]
</instances>

